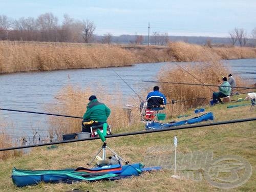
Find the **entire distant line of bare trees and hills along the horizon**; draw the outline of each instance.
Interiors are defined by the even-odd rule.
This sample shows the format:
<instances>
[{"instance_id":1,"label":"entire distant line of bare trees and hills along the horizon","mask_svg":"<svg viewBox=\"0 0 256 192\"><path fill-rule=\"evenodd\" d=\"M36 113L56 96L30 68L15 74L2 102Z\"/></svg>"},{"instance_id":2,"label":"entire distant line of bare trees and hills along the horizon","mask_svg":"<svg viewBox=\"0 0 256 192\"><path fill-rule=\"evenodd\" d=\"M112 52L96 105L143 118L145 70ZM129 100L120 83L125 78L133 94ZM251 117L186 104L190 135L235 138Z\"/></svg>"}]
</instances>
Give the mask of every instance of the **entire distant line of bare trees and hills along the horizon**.
<instances>
[{"instance_id":1,"label":"entire distant line of bare trees and hills along the horizon","mask_svg":"<svg viewBox=\"0 0 256 192\"><path fill-rule=\"evenodd\" d=\"M6 15L0 15L0 40L24 40L24 41L53 41L53 42L100 42L103 44L147 44L147 36L120 35L113 36L106 33L102 36L95 35L96 26L89 19L79 20L63 15L62 23L52 13L39 15L37 18L21 17L11 19ZM153 32L150 35L151 45L167 45L169 41L185 41L192 44L207 45L231 44L237 46L256 45L256 28L248 35L241 28L234 28L229 32L230 37L193 37L193 36L169 36L167 32Z\"/></svg>"}]
</instances>

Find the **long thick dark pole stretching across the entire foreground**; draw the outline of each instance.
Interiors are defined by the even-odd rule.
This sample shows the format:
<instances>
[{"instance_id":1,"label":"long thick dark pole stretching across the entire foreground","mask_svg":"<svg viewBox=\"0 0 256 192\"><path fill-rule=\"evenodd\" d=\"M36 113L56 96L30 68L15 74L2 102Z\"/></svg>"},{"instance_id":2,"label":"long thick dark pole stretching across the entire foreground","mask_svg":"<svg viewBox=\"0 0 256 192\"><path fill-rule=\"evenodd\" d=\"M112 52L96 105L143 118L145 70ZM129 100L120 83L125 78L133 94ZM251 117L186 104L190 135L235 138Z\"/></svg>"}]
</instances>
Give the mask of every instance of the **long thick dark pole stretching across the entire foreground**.
<instances>
[{"instance_id":1,"label":"long thick dark pole stretching across the entire foreground","mask_svg":"<svg viewBox=\"0 0 256 192\"><path fill-rule=\"evenodd\" d=\"M206 126L214 126L214 125L222 125L222 124L230 124L230 123L248 122L248 121L255 121L255 120L256 120L256 117L253 117L253 118L247 118L247 119L218 121L218 122L211 122L211 123L204 123L204 124L197 124L197 125L183 125L183 126L177 126L177 127L169 127L169 128L160 129L160 130L145 130L145 131L137 131L137 132L130 132L130 133L120 133L120 134L114 134L114 135L106 135L104 137L105 138L124 137L124 136L157 133L157 132L165 132L165 131L184 130L184 129L191 129L191 128L196 128L196 127L206 127ZM42 143L42 144L0 148L0 152L1 151L9 151L9 150L20 150L22 148L30 148L30 147L37 147L37 146L46 146L46 145L54 145L54 144L62 144L62 143L87 141L87 140L94 140L94 139L101 139L101 138L100 137L90 137L90 138L82 138L82 139L72 139L72 140L67 140L67 141L55 141L55 142L51 142L51 143Z\"/></svg>"}]
</instances>

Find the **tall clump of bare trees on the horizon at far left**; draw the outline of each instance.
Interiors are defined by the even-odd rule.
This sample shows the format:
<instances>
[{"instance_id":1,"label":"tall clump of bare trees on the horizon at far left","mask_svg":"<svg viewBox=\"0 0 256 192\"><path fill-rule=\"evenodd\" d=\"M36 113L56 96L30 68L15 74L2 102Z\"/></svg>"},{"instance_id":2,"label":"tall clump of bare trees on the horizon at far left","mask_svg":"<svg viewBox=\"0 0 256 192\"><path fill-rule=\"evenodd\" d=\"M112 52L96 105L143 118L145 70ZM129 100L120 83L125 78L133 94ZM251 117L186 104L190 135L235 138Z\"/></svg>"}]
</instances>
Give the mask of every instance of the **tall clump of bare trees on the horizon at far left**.
<instances>
[{"instance_id":1,"label":"tall clump of bare trees on the horizon at far left","mask_svg":"<svg viewBox=\"0 0 256 192\"><path fill-rule=\"evenodd\" d=\"M75 20L67 14L60 25L52 13L14 20L0 15L1 40L90 42L93 41L95 29L90 20Z\"/></svg>"}]
</instances>

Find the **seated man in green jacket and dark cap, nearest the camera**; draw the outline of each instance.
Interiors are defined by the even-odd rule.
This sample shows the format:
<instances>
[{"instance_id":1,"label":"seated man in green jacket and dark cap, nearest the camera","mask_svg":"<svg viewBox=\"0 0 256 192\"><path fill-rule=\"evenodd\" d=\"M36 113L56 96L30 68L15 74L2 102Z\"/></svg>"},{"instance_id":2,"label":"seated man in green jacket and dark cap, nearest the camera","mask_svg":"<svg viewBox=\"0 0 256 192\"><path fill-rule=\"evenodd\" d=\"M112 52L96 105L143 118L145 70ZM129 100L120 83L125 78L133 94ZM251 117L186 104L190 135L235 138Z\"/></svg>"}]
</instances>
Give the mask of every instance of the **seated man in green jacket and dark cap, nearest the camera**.
<instances>
[{"instance_id":1,"label":"seated man in green jacket and dark cap, nearest the camera","mask_svg":"<svg viewBox=\"0 0 256 192\"><path fill-rule=\"evenodd\" d=\"M100 103L95 95L91 95L89 101L83 115L82 132L91 133L91 126L105 123L111 111L104 103Z\"/></svg>"}]
</instances>

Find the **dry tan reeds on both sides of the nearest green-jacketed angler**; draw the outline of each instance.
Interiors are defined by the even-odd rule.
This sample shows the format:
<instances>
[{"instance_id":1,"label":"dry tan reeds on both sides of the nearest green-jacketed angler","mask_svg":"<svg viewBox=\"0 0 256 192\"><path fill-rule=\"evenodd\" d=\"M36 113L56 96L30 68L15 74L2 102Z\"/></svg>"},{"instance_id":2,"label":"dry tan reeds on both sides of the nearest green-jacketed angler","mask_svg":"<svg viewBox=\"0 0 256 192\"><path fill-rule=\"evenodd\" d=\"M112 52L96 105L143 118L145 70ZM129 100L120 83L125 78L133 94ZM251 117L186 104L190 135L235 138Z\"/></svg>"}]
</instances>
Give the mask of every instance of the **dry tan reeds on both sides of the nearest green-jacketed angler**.
<instances>
[{"instance_id":1,"label":"dry tan reeds on both sides of the nearest green-jacketed angler","mask_svg":"<svg viewBox=\"0 0 256 192\"><path fill-rule=\"evenodd\" d=\"M86 112L86 106L89 102L88 98L93 94L90 88L81 89L75 86L66 86L56 95L56 102L53 105L47 106L51 112L61 113L70 116L82 117ZM135 126L140 121L139 110L124 110L123 97L121 93L113 96L106 94L104 91L97 91L99 102L103 102L111 109L111 115L108 119L108 124L112 127L112 132L117 133L120 130L125 130L127 127ZM131 116L130 116L131 115ZM51 131L50 135L57 134L61 137L62 134L81 132L82 119L50 117Z\"/></svg>"}]
</instances>

